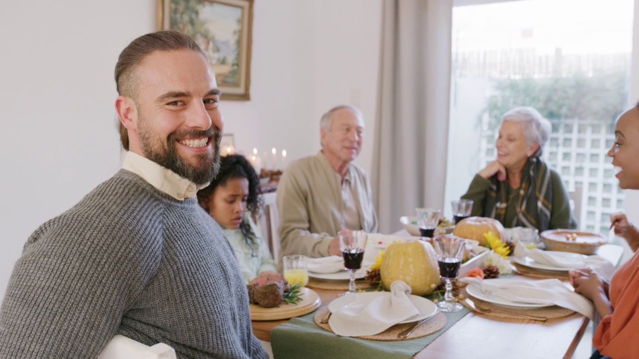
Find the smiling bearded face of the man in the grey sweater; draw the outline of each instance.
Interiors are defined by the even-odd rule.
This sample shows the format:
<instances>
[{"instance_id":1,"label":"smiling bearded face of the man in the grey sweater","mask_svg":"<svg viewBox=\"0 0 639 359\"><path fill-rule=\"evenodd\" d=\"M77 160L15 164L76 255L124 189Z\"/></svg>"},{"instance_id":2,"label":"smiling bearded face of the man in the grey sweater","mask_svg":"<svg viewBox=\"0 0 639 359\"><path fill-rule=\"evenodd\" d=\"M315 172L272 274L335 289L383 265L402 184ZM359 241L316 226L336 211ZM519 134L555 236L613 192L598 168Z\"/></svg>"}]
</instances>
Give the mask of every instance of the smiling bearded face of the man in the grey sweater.
<instances>
[{"instance_id":1,"label":"smiling bearded face of the man in the grey sweater","mask_svg":"<svg viewBox=\"0 0 639 359\"><path fill-rule=\"evenodd\" d=\"M153 52L135 70L131 150L204 185L219 169L222 114L215 76L193 50Z\"/></svg>"}]
</instances>

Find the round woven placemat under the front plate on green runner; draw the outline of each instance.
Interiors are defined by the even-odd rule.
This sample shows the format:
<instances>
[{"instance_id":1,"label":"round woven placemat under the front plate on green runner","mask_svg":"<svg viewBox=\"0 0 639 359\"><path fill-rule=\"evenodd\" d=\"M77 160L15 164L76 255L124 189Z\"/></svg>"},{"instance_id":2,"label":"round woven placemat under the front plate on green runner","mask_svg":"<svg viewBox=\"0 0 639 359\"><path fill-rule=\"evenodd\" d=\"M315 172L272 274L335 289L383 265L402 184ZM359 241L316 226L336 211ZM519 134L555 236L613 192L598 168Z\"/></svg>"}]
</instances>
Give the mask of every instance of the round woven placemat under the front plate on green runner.
<instances>
[{"instance_id":1,"label":"round woven placemat under the front plate on green runner","mask_svg":"<svg viewBox=\"0 0 639 359\"><path fill-rule=\"evenodd\" d=\"M326 330L327 332L332 333L333 331L330 329L330 325L328 325L328 323L327 324L319 323L319 321L321 321L321 319L326 316L328 316L328 305L326 307L319 309L317 312L315 312L315 315L313 316L313 321L315 321L315 324L318 325L319 328L322 328L323 330ZM442 312L437 312L437 314L435 314L435 316L433 316L431 319L428 319L426 323L423 323L422 325L415 328L415 330L413 330L413 332L410 333L410 336L408 338L399 338L397 337L397 334L408 329L408 327L410 327L413 323L397 324L397 325L391 326L390 328L388 328L387 330L379 334L369 335L367 337L356 337L356 338L367 339L367 340L380 340L380 341L395 341L395 340L421 338L421 337L426 337L426 335L435 333L438 330L442 329L446 325L446 322L447 322L447 319L445 314L443 314Z\"/></svg>"}]
</instances>

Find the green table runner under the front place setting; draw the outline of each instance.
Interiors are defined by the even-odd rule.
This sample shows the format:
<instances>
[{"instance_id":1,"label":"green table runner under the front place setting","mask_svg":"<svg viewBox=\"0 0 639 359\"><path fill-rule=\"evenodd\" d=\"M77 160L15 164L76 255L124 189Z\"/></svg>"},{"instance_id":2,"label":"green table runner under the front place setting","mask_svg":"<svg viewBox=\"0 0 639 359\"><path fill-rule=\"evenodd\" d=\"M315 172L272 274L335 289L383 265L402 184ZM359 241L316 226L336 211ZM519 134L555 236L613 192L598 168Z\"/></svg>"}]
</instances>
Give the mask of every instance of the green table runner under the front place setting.
<instances>
[{"instance_id":1,"label":"green table runner under the front place setting","mask_svg":"<svg viewBox=\"0 0 639 359\"><path fill-rule=\"evenodd\" d=\"M275 359L407 359L424 349L469 312L470 310L464 307L460 312L444 313L447 319L446 325L438 332L426 337L384 342L340 337L335 333L327 332L315 324L313 321L315 312L312 312L273 328L271 346Z\"/></svg>"}]
</instances>

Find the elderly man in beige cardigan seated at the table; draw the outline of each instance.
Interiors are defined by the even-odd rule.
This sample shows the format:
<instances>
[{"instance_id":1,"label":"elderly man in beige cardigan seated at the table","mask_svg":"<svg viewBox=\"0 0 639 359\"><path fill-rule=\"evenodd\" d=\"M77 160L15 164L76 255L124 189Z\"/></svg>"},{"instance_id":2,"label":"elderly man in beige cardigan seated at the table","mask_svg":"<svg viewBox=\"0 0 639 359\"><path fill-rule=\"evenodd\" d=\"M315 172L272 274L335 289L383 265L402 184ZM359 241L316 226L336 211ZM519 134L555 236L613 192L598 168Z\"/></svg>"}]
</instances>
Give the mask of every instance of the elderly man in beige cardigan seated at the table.
<instances>
[{"instance_id":1,"label":"elderly man in beige cardigan seated at the table","mask_svg":"<svg viewBox=\"0 0 639 359\"><path fill-rule=\"evenodd\" d=\"M341 229L377 231L371 184L352 163L362 149L362 112L334 107L319 127L321 151L292 162L277 186L282 256L341 256Z\"/></svg>"}]
</instances>

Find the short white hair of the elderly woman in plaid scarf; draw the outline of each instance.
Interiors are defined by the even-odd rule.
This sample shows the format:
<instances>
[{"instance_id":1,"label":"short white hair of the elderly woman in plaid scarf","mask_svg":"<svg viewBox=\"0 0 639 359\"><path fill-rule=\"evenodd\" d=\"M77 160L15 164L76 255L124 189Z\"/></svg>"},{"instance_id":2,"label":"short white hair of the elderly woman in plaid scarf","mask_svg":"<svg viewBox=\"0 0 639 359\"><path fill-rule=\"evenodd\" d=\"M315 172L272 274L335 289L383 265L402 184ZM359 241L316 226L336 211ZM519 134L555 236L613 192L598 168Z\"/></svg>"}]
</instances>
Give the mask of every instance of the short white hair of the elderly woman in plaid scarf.
<instances>
[{"instance_id":1,"label":"short white hair of the elderly woman in plaid scarf","mask_svg":"<svg viewBox=\"0 0 639 359\"><path fill-rule=\"evenodd\" d=\"M502 116L501 123L505 121L520 123L521 130L523 130L523 135L526 137L528 145L532 146L535 142L539 144L539 148L532 155L541 157L544 151L544 145L548 141L548 136L552 131L550 121L545 119L544 116L541 116L539 111L528 106L515 107L507 111L504 116Z\"/></svg>"}]
</instances>

